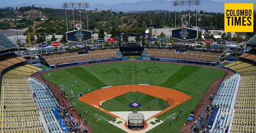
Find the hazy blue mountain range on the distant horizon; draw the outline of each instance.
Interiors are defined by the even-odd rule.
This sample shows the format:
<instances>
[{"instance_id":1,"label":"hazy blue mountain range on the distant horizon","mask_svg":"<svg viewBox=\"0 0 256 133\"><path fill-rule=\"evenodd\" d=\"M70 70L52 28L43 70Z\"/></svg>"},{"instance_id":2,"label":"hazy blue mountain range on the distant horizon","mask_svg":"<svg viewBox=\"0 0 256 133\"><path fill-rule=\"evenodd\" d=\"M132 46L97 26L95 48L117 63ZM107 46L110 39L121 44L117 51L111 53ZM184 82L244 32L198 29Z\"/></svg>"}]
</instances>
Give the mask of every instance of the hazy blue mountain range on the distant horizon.
<instances>
[{"instance_id":1,"label":"hazy blue mountain range on the distant horizon","mask_svg":"<svg viewBox=\"0 0 256 133\"><path fill-rule=\"evenodd\" d=\"M32 4L23 3L13 5L14 7L21 7L21 6L32 6ZM54 9L62 9L61 5L46 5L46 4L36 4L35 6L41 8L54 8ZM110 10L119 12L133 12L133 11L147 11L147 10L168 10L168 11L175 11L175 6L172 5L172 1L166 0L153 0L153 1L140 1L134 3L120 3L120 4L96 4L91 5L88 10ZM184 5L183 11L188 10L189 6ZM182 6L176 7L177 11L182 11ZM195 5L190 6L190 10L196 10ZM201 5L198 5L198 11L203 10L204 12L224 12L224 3L211 1L211 0L202 0Z\"/></svg>"}]
</instances>

